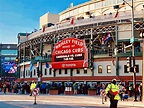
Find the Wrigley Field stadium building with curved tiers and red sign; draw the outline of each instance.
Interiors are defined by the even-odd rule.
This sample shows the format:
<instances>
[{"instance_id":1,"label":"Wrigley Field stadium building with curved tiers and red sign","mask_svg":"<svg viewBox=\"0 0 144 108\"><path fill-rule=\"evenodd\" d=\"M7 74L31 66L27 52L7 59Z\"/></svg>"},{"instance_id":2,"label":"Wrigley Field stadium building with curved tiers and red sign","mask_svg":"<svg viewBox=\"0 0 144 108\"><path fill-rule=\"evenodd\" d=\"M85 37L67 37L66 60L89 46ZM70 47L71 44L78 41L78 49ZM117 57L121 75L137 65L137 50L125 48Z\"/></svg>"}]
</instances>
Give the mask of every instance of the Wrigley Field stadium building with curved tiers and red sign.
<instances>
[{"instance_id":1,"label":"Wrigley Field stadium building with curved tiers and red sign","mask_svg":"<svg viewBox=\"0 0 144 108\"><path fill-rule=\"evenodd\" d=\"M17 81L140 83L142 37L143 0L71 3L58 15L41 16L39 30L18 34Z\"/></svg>"}]
</instances>

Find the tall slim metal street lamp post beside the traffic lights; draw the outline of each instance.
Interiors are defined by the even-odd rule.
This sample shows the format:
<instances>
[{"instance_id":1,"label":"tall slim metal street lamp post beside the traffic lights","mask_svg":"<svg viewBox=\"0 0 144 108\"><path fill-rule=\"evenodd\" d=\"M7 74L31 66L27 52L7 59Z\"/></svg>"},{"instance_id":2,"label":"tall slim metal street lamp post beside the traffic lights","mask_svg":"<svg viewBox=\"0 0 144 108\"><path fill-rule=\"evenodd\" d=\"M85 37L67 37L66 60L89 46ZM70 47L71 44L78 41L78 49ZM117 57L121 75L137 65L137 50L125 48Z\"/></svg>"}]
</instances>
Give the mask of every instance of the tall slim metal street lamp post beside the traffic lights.
<instances>
[{"instance_id":1,"label":"tall slim metal street lamp post beside the traffic lights","mask_svg":"<svg viewBox=\"0 0 144 108\"><path fill-rule=\"evenodd\" d=\"M131 7L131 38L134 39L134 2L131 1L131 5L127 3L127 1L123 0L124 3L128 4ZM132 42L132 57L133 57L133 87L134 87L134 101L137 101L137 94L136 94L136 66L135 66L135 47L134 41Z\"/></svg>"}]
</instances>

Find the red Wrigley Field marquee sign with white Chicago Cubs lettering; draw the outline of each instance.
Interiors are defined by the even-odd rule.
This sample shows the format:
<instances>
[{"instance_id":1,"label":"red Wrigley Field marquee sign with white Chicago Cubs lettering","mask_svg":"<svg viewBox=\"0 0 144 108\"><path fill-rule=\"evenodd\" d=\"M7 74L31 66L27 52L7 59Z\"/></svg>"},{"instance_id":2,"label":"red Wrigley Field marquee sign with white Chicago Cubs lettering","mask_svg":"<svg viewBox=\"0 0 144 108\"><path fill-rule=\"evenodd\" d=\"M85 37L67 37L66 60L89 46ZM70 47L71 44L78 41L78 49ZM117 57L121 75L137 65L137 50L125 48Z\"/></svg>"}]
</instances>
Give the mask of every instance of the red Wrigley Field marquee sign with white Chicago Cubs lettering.
<instances>
[{"instance_id":1,"label":"red Wrigley Field marquee sign with white Chicago Cubs lettering","mask_svg":"<svg viewBox=\"0 0 144 108\"><path fill-rule=\"evenodd\" d=\"M88 67L88 50L84 40L66 38L54 46L52 53L53 69Z\"/></svg>"}]
</instances>

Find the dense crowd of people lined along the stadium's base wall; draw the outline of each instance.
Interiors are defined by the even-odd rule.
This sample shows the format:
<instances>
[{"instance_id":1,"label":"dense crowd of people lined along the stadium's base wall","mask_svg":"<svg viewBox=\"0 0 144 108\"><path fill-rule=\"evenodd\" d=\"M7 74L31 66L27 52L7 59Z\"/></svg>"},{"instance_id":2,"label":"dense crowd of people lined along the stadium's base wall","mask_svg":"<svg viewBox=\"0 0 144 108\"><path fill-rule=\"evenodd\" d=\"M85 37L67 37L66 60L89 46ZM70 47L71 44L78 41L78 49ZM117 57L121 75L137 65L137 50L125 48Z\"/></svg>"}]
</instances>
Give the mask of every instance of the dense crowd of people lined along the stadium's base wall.
<instances>
[{"instance_id":1,"label":"dense crowd of people lined along the stadium's base wall","mask_svg":"<svg viewBox=\"0 0 144 108\"><path fill-rule=\"evenodd\" d=\"M52 83L46 83L46 82L1 82L0 83L0 92L10 92L10 93L16 93L16 94L30 94L31 91L34 88L40 88L40 94L49 94L49 90L53 87L56 87L58 89L58 94L64 94L66 87L71 87L73 90L74 95L77 94L88 94L88 89L95 89L96 95L101 95L104 97L104 100L106 101L106 94L105 89L107 87L108 83L102 83L102 84L84 84L80 82L73 82L73 83L64 83L64 82L52 82ZM125 86L122 83L118 84L119 86L119 95L121 100L123 101L125 98L124 96L128 94L129 97L132 97L134 94L133 85L127 85ZM136 93L140 96L140 101L142 97L142 83L136 86Z\"/></svg>"}]
</instances>

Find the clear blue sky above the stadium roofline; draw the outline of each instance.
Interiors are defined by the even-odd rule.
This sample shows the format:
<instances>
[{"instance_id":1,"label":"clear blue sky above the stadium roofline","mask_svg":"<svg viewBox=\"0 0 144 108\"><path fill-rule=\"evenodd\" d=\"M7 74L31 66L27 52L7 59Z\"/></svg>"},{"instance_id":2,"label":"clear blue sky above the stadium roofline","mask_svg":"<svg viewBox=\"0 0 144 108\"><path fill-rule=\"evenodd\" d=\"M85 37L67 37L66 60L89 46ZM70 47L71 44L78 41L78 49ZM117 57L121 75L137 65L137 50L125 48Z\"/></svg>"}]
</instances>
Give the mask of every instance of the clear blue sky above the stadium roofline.
<instances>
[{"instance_id":1,"label":"clear blue sky above the stadium roofline","mask_svg":"<svg viewBox=\"0 0 144 108\"><path fill-rule=\"evenodd\" d=\"M89 0L0 0L0 43L17 43L17 34L39 29L39 18Z\"/></svg>"}]
</instances>

